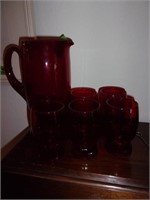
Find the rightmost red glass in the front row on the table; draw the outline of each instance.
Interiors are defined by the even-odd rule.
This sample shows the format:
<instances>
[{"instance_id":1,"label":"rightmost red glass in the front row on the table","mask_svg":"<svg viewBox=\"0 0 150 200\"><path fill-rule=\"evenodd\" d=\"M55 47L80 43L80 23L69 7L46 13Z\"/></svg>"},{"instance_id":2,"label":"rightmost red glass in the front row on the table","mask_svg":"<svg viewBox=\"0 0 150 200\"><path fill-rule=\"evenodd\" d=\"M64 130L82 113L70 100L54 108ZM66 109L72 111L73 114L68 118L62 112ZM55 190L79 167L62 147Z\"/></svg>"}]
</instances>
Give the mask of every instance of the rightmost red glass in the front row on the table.
<instances>
[{"instance_id":1,"label":"rightmost red glass in the front row on the table","mask_svg":"<svg viewBox=\"0 0 150 200\"><path fill-rule=\"evenodd\" d=\"M138 103L130 96L119 103L115 98L110 98L107 100L107 113L109 117L109 132L106 139L108 151L130 154L131 141L138 128Z\"/></svg>"}]
</instances>

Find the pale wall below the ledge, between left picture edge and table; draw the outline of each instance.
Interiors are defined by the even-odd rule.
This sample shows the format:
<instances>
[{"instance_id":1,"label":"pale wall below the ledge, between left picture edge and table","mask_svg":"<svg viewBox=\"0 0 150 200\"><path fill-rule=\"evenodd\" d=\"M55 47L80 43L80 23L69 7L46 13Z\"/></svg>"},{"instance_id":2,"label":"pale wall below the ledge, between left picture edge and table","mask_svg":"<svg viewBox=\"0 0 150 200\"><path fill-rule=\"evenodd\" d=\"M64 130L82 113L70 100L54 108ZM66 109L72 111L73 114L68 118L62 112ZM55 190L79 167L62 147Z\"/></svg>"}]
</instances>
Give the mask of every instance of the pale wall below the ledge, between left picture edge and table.
<instances>
[{"instance_id":1,"label":"pale wall below the ledge, between left picture edge and table","mask_svg":"<svg viewBox=\"0 0 150 200\"><path fill-rule=\"evenodd\" d=\"M26 128L27 125L25 101L8 83L3 83L1 87L2 147Z\"/></svg>"}]
</instances>

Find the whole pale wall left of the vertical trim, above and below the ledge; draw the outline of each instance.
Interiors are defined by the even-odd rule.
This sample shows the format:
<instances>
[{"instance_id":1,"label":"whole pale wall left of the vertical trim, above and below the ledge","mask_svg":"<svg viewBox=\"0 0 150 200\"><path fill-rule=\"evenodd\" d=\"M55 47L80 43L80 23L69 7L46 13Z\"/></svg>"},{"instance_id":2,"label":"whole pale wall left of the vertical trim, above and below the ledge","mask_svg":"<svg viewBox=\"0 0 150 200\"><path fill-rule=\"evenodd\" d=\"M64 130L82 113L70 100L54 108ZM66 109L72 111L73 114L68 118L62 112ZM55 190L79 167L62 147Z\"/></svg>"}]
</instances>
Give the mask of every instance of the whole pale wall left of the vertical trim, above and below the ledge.
<instances>
[{"instance_id":1,"label":"whole pale wall left of the vertical trim, above and below the ledge","mask_svg":"<svg viewBox=\"0 0 150 200\"><path fill-rule=\"evenodd\" d=\"M6 45L18 44L20 36L27 35L23 1L1 2L1 56ZM18 56L13 55L13 70L20 78ZM1 81L1 147L27 127L26 103L7 81Z\"/></svg>"}]
</instances>

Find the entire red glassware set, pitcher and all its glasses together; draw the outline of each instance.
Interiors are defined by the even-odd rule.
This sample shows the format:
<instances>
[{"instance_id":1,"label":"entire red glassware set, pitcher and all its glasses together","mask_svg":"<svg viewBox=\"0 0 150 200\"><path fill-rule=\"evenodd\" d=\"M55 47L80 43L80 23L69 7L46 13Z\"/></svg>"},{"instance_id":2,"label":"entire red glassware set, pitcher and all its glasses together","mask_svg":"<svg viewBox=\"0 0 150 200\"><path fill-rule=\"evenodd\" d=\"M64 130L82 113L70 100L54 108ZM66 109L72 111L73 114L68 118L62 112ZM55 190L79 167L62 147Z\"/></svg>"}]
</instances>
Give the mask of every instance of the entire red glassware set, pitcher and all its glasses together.
<instances>
[{"instance_id":1,"label":"entire red glassware set, pitcher and all its glasses together","mask_svg":"<svg viewBox=\"0 0 150 200\"><path fill-rule=\"evenodd\" d=\"M64 35L20 37L4 50L11 86L26 100L28 121L42 155L63 155L63 126L70 127L72 154L94 157L101 132L111 153L129 154L138 126L138 103L118 86L71 88L69 49ZM12 54L19 56L22 82L13 73Z\"/></svg>"}]
</instances>

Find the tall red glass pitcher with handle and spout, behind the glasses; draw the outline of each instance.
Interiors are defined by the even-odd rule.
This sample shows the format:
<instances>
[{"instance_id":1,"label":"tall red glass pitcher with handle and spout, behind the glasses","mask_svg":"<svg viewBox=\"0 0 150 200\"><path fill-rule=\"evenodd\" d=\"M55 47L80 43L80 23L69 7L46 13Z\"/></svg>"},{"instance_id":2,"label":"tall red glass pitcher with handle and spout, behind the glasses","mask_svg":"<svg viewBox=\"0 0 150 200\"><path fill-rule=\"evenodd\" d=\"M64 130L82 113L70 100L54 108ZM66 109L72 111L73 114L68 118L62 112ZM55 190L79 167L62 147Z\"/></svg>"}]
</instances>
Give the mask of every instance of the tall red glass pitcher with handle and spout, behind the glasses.
<instances>
[{"instance_id":1,"label":"tall red glass pitcher with handle and spout, behind the glasses","mask_svg":"<svg viewBox=\"0 0 150 200\"><path fill-rule=\"evenodd\" d=\"M4 50L4 67L11 86L27 101L29 108L70 99L70 38L60 36L20 37L19 45ZM13 73L12 54L19 56L22 82Z\"/></svg>"}]
</instances>

